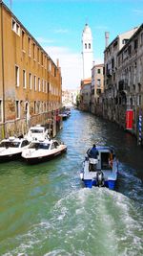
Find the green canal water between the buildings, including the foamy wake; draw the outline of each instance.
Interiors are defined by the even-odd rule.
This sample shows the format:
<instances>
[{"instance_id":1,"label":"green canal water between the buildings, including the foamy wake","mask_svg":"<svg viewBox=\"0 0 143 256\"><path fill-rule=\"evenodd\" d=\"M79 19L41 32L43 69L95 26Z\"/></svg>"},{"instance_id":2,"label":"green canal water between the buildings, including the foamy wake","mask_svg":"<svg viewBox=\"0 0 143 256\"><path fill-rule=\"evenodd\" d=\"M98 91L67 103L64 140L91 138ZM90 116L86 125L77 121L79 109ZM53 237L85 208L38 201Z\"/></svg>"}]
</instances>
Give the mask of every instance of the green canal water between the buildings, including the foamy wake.
<instances>
[{"instance_id":1,"label":"green canal water between the buildings, including the foamy wake","mask_svg":"<svg viewBox=\"0 0 143 256\"><path fill-rule=\"evenodd\" d=\"M47 163L0 165L0 255L143 255L143 149L116 125L72 110L57 136L68 151ZM79 179L92 143L114 146L115 191Z\"/></svg>"}]
</instances>

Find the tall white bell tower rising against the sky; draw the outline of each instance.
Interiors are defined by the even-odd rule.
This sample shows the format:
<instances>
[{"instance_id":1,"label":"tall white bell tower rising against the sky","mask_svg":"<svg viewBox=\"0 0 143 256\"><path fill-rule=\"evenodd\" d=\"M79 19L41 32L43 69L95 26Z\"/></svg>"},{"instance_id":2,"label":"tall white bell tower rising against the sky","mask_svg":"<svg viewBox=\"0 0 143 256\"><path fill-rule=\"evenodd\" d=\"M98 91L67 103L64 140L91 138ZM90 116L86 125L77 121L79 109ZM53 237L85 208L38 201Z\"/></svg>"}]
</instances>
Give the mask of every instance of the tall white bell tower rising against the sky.
<instances>
[{"instance_id":1,"label":"tall white bell tower rising against the sky","mask_svg":"<svg viewBox=\"0 0 143 256\"><path fill-rule=\"evenodd\" d=\"M82 33L82 60L83 60L83 79L92 77L92 31L86 23Z\"/></svg>"}]
</instances>

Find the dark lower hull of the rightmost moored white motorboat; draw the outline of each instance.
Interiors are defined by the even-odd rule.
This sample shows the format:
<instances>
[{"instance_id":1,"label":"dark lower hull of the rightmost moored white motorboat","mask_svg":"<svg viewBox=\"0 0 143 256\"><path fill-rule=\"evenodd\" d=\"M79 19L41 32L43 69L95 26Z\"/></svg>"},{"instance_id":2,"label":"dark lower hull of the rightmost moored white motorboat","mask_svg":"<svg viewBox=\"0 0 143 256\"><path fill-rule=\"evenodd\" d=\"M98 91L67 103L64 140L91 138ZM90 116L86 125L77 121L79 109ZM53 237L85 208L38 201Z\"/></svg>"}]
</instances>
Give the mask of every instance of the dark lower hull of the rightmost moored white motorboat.
<instances>
[{"instance_id":1,"label":"dark lower hull of the rightmost moored white motorboat","mask_svg":"<svg viewBox=\"0 0 143 256\"><path fill-rule=\"evenodd\" d=\"M40 155L40 156L37 156L37 157L27 157L27 158L24 158L27 163L31 164L31 165L34 165L34 164L38 164L38 163L42 163L42 162L47 162L59 155L61 155L62 153L66 152L67 151L67 148L61 150L61 151L56 151L54 153L51 153L51 154L47 154L47 155Z\"/></svg>"}]
</instances>

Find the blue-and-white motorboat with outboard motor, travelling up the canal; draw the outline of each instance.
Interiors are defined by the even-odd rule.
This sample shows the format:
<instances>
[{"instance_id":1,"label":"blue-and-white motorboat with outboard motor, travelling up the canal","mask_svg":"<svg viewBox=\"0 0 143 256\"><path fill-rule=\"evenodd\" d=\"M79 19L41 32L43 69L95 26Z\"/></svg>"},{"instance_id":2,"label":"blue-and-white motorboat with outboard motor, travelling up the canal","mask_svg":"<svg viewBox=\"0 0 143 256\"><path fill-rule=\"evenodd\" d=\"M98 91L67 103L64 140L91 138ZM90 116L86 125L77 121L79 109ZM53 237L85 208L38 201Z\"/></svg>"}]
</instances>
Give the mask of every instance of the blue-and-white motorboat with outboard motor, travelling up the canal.
<instances>
[{"instance_id":1,"label":"blue-and-white motorboat with outboard motor, travelling up the canal","mask_svg":"<svg viewBox=\"0 0 143 256\"><path fill-rule=\"evenodd\" d=\"M90 151L91 149L87 151L80 178L86 187L105 186L113 190L118 172L118 161L113 147L96 146L95 158L90 155Z\"/></svg>"}]
</instances>

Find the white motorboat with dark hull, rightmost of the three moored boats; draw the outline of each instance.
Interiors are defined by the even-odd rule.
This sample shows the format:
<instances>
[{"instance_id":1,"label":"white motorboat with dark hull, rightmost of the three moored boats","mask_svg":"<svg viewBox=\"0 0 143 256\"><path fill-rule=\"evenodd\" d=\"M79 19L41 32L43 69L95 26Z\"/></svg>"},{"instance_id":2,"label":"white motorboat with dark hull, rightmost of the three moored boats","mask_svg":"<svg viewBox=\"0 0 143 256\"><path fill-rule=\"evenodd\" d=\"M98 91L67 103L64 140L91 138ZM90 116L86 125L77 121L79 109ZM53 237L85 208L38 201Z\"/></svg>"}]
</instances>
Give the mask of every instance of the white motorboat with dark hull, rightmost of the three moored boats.
<instances>
[{"instance_id":1,"label":"white motorboat with dark hull, rightmost of the three moored boats","mask_svg":"<svg viewBox=\"0 0 143 256\"><path fill-rule=\"evenodd\" d=\"M29 164L48 161L67 151L67 146L57 140L45 139L31 141L27 150L22 152L22 157Z\"/></svg>"}]
</instances>

